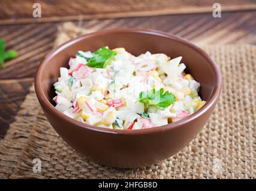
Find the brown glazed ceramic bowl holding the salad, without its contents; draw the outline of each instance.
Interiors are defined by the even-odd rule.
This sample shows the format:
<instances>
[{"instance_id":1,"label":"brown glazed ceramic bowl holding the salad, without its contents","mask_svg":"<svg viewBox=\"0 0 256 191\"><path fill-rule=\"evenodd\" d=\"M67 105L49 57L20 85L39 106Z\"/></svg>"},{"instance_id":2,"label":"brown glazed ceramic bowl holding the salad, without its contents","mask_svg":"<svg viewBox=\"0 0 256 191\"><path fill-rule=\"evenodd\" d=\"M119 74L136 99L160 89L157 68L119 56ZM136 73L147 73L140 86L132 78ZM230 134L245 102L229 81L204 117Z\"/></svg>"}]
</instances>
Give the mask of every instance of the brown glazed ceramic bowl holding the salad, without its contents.
<instances>
[{"instance_id":1,"label":"brown glazed ceramic bowl holding the salad, without its contents","mask_svg":"<svg viewBox=\"0 0 256 191\"><path fill-rule=\"evenodd\" d=\"M124 47L130 53L165 53L182 56L186 71L200 82L206 104L188 118L146 130L109 130L75 121L55 109L53 83L59 68L67 67L78 50ZM221 93L221 73L203 50L185 39L144 29L114 29L79 36L51 51L35 76L35 91L47 119L56 132L77 152L112 167L142 167L162 161L185 147L203 128Z\"/></svg>"}]
</instances>

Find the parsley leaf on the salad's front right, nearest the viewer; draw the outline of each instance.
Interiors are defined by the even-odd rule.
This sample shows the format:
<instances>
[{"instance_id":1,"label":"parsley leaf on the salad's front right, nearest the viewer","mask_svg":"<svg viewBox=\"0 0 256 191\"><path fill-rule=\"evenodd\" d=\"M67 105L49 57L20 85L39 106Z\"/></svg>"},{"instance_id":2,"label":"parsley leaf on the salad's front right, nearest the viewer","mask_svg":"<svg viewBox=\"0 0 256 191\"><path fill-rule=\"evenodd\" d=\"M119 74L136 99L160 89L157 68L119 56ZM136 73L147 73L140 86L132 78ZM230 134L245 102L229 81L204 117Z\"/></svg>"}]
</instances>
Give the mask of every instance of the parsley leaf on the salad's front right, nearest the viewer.
<instances>
[{"instance_id":1,"label":"parsley leaf on the salad's front right, nearest the viewer","mask_svg":"<svg viewBox=\"0 0 256 191\"><path fill-rule=\"evenodd\" d=\"M157 106L159 109L164 109L170 106L175 101L175 96L161 88L159 91L155 89L149 91L141 91L139 95L139 102L143 103L145 107Z\"/></svg>"}]
</instances>

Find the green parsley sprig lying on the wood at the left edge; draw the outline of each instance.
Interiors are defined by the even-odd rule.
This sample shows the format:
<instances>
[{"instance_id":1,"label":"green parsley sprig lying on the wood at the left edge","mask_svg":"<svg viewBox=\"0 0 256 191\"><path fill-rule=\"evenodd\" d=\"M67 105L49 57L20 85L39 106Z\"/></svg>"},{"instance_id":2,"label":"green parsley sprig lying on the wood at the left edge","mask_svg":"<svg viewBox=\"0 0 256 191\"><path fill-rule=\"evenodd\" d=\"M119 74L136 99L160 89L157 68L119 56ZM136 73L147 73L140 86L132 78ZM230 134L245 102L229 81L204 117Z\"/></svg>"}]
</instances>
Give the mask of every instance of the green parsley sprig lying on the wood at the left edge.
<instances>
[{"instance_id":1,"label":"green parsley sprig lying on the wood at the left edge","mask_svg":"<svg viewBox=\"0 0 256 191\"><path fill-rule=\"evenodd\" d=\"M17 51L9 50L5 52L5 41L4 39L0 39L0 65L2 69L5 68L5 64L4 64L5 60L10 60L10 59L16 58L17 56L18 56Z\"/></svg>"}]
</instances>

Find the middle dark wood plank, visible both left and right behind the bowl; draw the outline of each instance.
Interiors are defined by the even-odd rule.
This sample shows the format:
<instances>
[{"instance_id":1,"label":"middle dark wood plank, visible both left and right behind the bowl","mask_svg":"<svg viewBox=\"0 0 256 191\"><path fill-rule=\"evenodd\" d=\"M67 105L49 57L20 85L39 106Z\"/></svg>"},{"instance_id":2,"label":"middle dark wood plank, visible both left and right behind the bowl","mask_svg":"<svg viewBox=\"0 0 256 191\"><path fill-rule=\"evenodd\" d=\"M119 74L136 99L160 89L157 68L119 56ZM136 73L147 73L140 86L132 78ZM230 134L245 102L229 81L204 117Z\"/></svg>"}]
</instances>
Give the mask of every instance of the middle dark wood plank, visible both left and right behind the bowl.
<instances>
[{"instance_id":1,"label":"middle dark wood plank, visible both left and right behind the bowl","mask_svg":"<svg viewBox=\"0 0 256 191\"><path fill-rule=\"evenodd\" d=\"M82 25L92 30L118 27L162 30L198 44L256 44L255 17L255 11L242 11L224 13L219 19L214 19L211 14L193 14L89 20L83 21ZM0 70L0 79L33 77L41 58L51 50L60 24L20 24L18 29L17 25L0 26L0 38L7 41L7 48L19 52L18 58L8 61L7 68ZM1 35L2 31L4 35Z\"/></svg>"}]
</instances>

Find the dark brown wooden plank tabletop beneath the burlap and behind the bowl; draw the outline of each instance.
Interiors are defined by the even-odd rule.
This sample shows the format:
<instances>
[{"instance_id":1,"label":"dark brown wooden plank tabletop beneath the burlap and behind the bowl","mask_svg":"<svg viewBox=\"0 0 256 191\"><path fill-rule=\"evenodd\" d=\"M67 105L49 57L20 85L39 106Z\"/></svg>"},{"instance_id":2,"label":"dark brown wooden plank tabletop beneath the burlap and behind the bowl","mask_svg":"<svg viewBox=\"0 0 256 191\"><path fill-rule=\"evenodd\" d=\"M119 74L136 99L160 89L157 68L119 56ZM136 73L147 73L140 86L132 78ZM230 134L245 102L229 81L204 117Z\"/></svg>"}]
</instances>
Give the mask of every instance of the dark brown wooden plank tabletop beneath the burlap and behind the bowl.
<instances>
[{"instance_id":1,"label":"dark brown wooden plank tabletop beneath the burlap and behind the bowl","mask_svg":"<svg viewBox=\"0 0 256 191\"><path fill-rule=\"evenodd\" d=\"M0 39L4 38L7 41L7 50L14 49L19 52L19 57L6 63L6 69L0 69L0 138L4 137L10 123L13 122L20 104L34 81L38 64L52 49L58 26L64 21L74 20L74 23L93 30L118 27L162 30L182 36L199 45L256 44L256 4L255 1L250 0L243 1L241 5L239 4L241 1L233 1L234 4L231 5L223 1L224 12L222 11L221 18L216 19L212 17L212 7L209 7L209 4L200 4L198 1L194 1L198 2L197 4L185 4L186 1L180 4L175 1L174 8L170 6L159 8L157 4L149 5L149 0L140 1L138 7L134 7L128 1L122 6L115 7L113 0L102 12L97 6L102 5L103 1L88 4L91 12L88 9L80 10L79 4L74 2L71 5L76 7L78 12L69 7L65 13L65 6L62 4L58 7L57 16L51 15L52 9L50 9L46 12L46 17L37 20L29 16L31 11L29 5L32 2L22 1L19 7L13 3L16 7L12 8L8 7L7 1L0 1ZM38 2L51 8L56 6L57 1ZM51 3L46 4L46 2ZM70 4L70 1L63 2ZM162 1L161 5L167 6L167 1ZM203 8L198 5L203 5ZM149 8L144 11L147 7ZM19 13L17 10L23 11ZM79 14L83 16L77 16ZM78 19L80 22L77 21Z\"/></svg>"}]
</instances>

